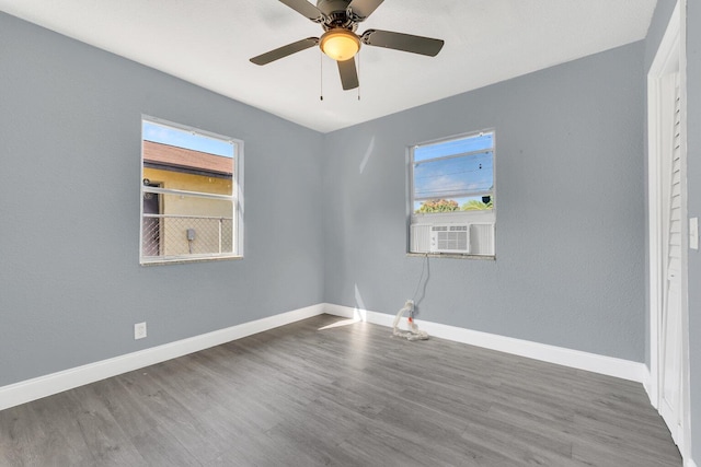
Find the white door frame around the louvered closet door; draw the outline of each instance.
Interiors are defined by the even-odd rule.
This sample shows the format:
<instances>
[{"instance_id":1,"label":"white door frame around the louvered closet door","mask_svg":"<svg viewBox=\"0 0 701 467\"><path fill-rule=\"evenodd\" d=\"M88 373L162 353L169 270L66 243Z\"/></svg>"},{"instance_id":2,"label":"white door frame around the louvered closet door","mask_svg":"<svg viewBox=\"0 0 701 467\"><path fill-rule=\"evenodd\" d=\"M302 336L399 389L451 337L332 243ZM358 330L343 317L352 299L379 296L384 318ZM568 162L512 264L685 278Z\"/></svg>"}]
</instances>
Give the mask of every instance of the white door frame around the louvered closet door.
<instances>
[{"instance_id":1,"label":"white door frame around the louvered closet door","mask_svg":"<svg viewBox=\"0 0 701 467\"><path fill-rule=\"evenodd\" d=\"M689 226L687 209L687 62L686 62L686 2L677 0L675 10L667 25L665 35L655 54L655 58L647 73L647 214L648 214L648 306L650 306L650 373L645 385L651 402L659 410L660 407L660 320L664 310L664 249L662 242L666 237L667 227L663 218L664 194L663 179L665 170L662 166L662 118L663 78L677 67L679 71L679 95L681 112L681 397L680 416L682 432L676 436L679 451L685 459L690 458L691 432L690 427L690 386L689 386ZM673 428L670 428L671 430Z\"/></svg>"}]
</instances>

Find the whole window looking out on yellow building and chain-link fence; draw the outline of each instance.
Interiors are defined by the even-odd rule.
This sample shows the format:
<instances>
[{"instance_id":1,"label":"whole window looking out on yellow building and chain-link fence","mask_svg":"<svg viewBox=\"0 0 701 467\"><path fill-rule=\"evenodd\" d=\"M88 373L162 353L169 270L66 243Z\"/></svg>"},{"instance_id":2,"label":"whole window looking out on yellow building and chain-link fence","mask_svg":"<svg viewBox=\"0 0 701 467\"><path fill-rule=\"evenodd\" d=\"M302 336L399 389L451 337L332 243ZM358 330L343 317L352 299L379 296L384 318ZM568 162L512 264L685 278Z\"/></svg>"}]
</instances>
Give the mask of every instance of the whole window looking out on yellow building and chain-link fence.
<instances>
[{"instance_id":1,"label":"whole window looking out on yellow building and chain-link fence","mask_svg":"<svg viewBox=\"0 0 701 467\"><path fill-rule=\"evenodd\" d=\"M243 142L141 121L141 264L242 256Z\"/></svg>"}]
</instances>

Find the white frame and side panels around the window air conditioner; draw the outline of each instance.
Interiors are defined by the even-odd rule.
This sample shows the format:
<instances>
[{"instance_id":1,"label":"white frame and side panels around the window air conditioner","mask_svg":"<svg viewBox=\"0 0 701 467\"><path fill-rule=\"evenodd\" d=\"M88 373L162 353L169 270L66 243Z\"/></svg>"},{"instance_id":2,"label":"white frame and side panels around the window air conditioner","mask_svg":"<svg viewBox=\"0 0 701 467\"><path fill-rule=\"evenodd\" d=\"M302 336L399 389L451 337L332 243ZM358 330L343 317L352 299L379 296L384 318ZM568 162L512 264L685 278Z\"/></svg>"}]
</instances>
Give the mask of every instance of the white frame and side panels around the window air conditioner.
<instances>
[{"instance_id":1,"label":"white frame and side panels around the window air conditioner","mask_svg":"<svg viewBox=\"0 0 701 467\"><path fill-rule=\"evenodd\" d=\"M490 190L482 191L469 191L459 194L461 197L480 197L480 196L490 196L493 201L493 208L491 210L482 210L482 211L450 211L450 212L439 212L439 213L416 213L414 212L415 201L421 201L423 198L415 199L414 198L414 151L417 148L434 145L446 143L450 141L456 141L460 139L467 139L471 137L479 137L482 135L492 135L492 179L493 185ZM474 153L481 153L484 150L474 151ZM437 159L448 159L456 156L470 155L472 152L464 154L456 154L449 155L446 157L437 157ZM426 161L422 161L426 162ZM480 131L471 131L461 135L450 136L446 138L440 138L430 141L424 141L421 143L412 144L406 149L406 165L407 165L407 243L406 243L406 252L407 255L430 255L438 257L459 257L459 258L496 258L496 130L493 128L484 129ZM456 198L457 196L451 196L450 198ZM432 199L432 198L426 198ZM469 253L432 253L426 250L425 248L417 248L415 245L416 238L415 233L422 229L422 226L427 226L428 229L436 225L461 225L469 224L471 226L470 232L471 235L474 235L476 232L480 234L484 233L486 236L491 236L489 241L490 246L485 247L485 250L475 250L474 248L470 248ZM491 233L490 233L491 232Z\"/></svg>"}]
</instances>

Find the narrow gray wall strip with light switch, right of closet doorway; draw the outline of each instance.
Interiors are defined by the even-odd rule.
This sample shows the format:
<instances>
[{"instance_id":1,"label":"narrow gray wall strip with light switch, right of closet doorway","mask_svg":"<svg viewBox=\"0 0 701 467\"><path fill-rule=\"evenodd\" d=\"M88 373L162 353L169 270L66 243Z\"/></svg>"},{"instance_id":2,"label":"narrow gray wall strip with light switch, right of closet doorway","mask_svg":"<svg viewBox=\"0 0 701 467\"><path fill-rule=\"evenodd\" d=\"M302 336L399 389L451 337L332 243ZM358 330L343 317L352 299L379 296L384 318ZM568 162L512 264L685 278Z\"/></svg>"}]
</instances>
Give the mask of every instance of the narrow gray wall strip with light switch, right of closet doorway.
<instances>
[{"instance_id":1,"label":"narrow gray wall strip with light switch, right of closet doorway","mask_svg":"<svg viewBox=\"0 0 701 467\"><path fill-rule=\"evenodd\" d=\"M701 2L687 10L687 142L689 215L701 218ZM689 352L691 372L691 447L701 465L701 253L689 250Z\"/></svg>"}]
</instances>

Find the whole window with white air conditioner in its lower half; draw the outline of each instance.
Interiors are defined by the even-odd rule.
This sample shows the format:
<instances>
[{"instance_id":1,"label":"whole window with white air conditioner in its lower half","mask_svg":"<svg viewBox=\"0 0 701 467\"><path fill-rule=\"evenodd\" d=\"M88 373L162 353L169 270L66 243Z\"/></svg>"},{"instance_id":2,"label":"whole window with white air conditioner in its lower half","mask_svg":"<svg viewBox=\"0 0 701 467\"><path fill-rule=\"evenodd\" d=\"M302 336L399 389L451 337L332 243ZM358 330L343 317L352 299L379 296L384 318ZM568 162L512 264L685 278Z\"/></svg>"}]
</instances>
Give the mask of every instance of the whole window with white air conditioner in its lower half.
<instances>
[{"instance_id":1,"label":"whole window with white air conditioner in its lower half","mask_svg":"<svg viewBox=\"0 0 701 467\"><path fill-rule=\"evenodd\" d=\"M410 148L410 253L494 256L494 131Z\"/></svg>"}]
</instances>

